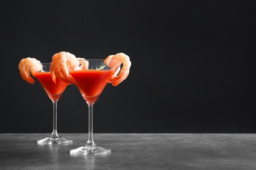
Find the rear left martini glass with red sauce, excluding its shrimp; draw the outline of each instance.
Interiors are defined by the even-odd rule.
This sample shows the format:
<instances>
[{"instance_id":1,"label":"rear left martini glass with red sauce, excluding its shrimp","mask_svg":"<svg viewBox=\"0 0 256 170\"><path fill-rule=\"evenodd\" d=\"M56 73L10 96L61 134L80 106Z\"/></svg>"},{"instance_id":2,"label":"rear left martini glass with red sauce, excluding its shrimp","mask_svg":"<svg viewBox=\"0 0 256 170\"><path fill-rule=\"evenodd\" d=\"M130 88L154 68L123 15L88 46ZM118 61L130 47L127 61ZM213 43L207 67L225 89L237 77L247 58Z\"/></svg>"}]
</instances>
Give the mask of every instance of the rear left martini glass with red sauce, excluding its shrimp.
<instances>
[{"instance_id":1,"label":"rear left martini glass with red sauce, excluding its shrimp","mask_svg":"<svg viewBox=\"0 0 256 170\"><path fill-rule=\"evenodd\" d=\"M39 80L41 85L43 86L45 92L53 101L53 133L50 137L46 137L45 139L40 139L37 141L37 144L39 145L45 145L45 144L69 144L73 143L72 140L66 139L64 137L61 137L58 135L57 132L57 102L62 96L64 90L66 90L66 87L68 84L66 82L63 82L56 78L56 84L53 82L50 66L51 63L39 63L43 67L40 71L33 71L32 75ZM36 65L39 65L38 63L31 64L30 67L37 67ZM30 69L32 70L32 69Z\"/></svg>"}]
</instances>

